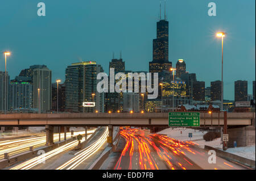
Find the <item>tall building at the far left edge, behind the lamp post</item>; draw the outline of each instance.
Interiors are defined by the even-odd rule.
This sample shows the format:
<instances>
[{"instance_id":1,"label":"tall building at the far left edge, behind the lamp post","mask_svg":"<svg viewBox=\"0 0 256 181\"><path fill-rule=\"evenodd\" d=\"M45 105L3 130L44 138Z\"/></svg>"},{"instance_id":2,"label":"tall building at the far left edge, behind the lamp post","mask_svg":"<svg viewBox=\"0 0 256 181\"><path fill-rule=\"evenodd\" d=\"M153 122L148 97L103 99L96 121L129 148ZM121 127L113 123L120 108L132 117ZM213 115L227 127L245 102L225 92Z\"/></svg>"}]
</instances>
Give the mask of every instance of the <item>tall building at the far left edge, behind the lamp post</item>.
<instances>
[{"instance_id":1,"label":"tall building at the far left edge, behind the lamp post","mask_svg":"<svg viewBox=\"0 0 256 181\"><path fill-rule=\"evenodd\" d=\"M6 94L5 94L5 71L0 71L0 111L5 111L5 100L6 100L6 110L8 110L9 103L9 87L10 87L10 76L6 72ZM7 96L6 96L7 95ZM6 99L7 98L7 99Z\"/></svg>"}]
</instances>

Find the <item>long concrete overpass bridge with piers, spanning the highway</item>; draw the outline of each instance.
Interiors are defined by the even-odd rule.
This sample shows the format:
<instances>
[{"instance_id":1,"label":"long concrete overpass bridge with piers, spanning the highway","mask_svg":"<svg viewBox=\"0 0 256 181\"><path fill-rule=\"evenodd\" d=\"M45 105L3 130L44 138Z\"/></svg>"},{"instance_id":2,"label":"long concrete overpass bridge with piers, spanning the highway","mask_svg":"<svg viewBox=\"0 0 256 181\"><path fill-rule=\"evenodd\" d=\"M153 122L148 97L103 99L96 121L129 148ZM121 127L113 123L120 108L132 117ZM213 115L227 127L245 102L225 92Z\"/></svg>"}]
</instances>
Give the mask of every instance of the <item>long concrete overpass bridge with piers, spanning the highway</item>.
<instances>
[{"instance_id":1,"label":"long concrete overpass bridge with piers, spanning the highway","mask_svg":"<svg viewBox=\"0 0 256 181\"><path fill-rule=\"evenodd\" d=\"M200 113L200 127L224 127L224 134L228 133L227 127L254 126L255 113L236 112L227 113L226 122L224 113ZM225 124L226 123L226 124ZM46 127L46 145L53 144L54 127L98 127L108 126L109 137L112 139L113 126L134 126L134 127L168 127L168 113L16 113L1 114L0 127ZM250 134L245 132L244 140L254 137L255 127ZM235 131L236 133L237 131ZM251 135L251 134L254 134ZM243 134L242 134L243 135ZM237 134L235 134L236 137Z\"/></svg>"}]
</instances>

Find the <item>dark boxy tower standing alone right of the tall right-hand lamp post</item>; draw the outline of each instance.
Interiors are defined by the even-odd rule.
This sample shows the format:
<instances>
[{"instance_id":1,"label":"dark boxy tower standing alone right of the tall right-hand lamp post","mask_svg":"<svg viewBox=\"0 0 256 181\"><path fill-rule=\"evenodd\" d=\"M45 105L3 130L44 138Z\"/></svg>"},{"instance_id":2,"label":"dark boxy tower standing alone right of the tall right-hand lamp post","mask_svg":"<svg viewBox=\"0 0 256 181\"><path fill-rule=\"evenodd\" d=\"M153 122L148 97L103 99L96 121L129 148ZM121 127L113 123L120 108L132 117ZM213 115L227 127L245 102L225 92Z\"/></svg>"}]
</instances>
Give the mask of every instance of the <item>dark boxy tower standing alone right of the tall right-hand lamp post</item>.
<instances>
[{"instance_id":1,"label":"dark boxy tower standing alone right of the tall right-hand lamp post","mask_svg":"<svg viewBox=\"0 0 256 181\"><path fill-rule=\"evenodd\" d=\"M235 81L235 102L247 101L247 81Z\"/></svg>"}]
</instances>

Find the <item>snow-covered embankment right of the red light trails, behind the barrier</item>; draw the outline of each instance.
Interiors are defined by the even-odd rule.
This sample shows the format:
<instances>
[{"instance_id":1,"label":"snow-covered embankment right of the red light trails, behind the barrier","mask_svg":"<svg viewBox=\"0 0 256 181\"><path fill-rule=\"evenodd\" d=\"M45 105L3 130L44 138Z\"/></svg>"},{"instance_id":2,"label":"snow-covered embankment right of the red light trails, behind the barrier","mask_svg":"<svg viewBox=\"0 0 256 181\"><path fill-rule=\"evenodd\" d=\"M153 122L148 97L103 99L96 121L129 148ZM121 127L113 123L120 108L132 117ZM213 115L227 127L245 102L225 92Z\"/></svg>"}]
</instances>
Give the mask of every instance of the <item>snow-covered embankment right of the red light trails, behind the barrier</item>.
<instances>
[{"instance_id":1,"label":"snow-covered embankment right of the red light trails, behind the barrier","mask_svg":"<svg viewBox=\"0 0 256 181\"><path fill-rule=\"evenodd\" d=\"M181 133L182 131L182 133ZM174 138L180 141L189 141L188 133L192 133L191 141L199 144L200 148L204 148L204 145L212 146L213 148L222 149L221 138L217 138L213 141L205 141L203 136L206 131L200 131L189 128L167 128L158 134L167 134L168 137ZM255 145L237 148L228 148L226 150L228 153L239 155L240 157L255 160Z\"/></svg>"}]
</instances>

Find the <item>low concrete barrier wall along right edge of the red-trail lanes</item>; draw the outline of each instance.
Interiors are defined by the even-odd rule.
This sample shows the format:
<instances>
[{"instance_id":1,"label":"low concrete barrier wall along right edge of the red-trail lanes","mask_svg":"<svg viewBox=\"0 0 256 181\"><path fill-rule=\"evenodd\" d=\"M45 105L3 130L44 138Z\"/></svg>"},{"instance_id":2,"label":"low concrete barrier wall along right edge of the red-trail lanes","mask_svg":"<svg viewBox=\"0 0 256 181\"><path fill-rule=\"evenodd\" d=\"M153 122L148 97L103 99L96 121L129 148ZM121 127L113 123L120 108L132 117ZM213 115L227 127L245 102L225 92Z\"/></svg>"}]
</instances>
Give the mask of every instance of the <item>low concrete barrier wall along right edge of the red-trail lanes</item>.
<instances>
[{"instance_id":1,"label":"low concrete barrier wall along right edge of the red-trail lanes","mask_svg":"<svg viewBox=\"0 0 256 181\"><path fill-rule=\"evenodd\" d=\"M227 159L229 161L238 162L238 163L241 163L242 165L249 166L249 167L255 169L255 161L252 160L252 159L243 158L243 157L240 157L236 154L228 153L226 151L219 150L219 149L213 148L211 146L207 146L207 145L204 146L204 149L214 150L214 151L216 151L216 155L218 157Z\"/></svg>"}]
</instances>

